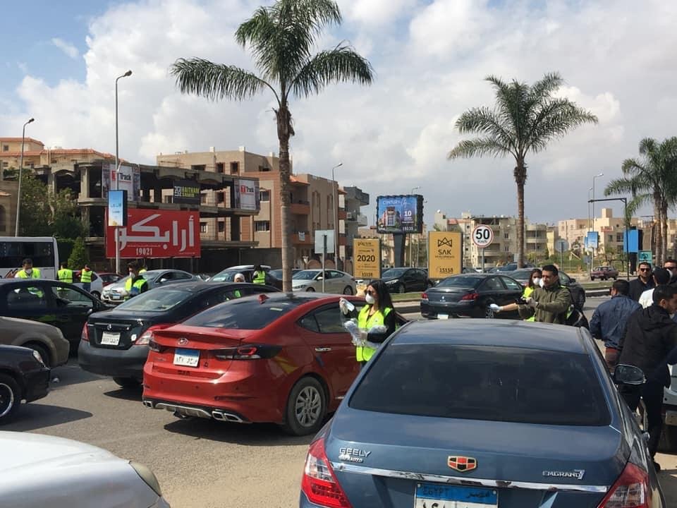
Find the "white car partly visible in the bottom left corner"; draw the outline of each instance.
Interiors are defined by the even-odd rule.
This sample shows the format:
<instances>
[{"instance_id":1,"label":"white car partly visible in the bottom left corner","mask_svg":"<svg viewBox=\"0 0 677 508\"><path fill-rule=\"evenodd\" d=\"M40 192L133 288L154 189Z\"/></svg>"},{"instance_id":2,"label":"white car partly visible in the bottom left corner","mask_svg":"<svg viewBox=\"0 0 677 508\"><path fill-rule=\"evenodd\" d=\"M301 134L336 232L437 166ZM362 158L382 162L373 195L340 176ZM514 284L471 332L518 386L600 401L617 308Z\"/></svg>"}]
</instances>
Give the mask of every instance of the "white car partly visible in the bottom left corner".
<instances>
[{"instance_id":1,"label":"white car partly visible in the bottom left corner","mask_svg":"<svg viewBox=\"0 0 677 508\"><path fill-rule=\"evenodd\" d=\"M0 504L12 508L169 508L149 468L78 441L0 432Z\"/></svg>"}]
</instances>

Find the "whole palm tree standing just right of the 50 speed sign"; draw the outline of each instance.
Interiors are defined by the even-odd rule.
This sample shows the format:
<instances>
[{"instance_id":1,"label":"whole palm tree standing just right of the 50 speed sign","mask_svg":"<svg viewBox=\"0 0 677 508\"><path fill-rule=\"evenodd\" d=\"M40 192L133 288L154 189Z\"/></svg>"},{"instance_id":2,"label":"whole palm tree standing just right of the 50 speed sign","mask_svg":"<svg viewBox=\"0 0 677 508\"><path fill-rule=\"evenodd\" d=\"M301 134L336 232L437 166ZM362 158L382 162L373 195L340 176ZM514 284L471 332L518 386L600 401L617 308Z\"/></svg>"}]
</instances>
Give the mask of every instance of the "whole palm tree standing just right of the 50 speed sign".
<instances>
[{"instance_id":1,"label":"whole palm tree standing just right of the 50 speed sign","mask_svg":"<svg viewBox=\"0 0 677 508\"><path fill-rule=\"evenodd\" d=\"M479 138L458 143L447 156L474 157L492 155L515 159L513 176L517 183L518 265L524 265L524 184L527 181L527 153L542 152L554 138L561 138L582 123L597 123L597 116L576 106L569 99L553 97L563 84L558 73L544 75L533 85L513 80L506 83L490 75L494 86L494 107L465 111L456 121L461 133L477 133Z\"/></svg>"}]
</instances>

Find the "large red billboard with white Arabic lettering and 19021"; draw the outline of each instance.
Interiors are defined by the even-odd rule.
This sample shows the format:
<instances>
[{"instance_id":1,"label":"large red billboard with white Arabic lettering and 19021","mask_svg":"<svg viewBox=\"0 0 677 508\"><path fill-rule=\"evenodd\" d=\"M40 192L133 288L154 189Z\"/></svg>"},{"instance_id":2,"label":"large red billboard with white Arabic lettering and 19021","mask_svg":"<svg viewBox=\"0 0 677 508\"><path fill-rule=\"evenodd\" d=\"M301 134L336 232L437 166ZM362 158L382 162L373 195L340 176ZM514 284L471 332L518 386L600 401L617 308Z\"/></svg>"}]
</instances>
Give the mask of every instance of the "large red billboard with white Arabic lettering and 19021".
<instances>
[{"instance_id":1,"label":"large red billboard with white Arabic lettering and 19021","mask_svg":"<svg viewBox=\"0 0 677 508\"><path fill-rule=\"evenodd\" d=\"M199 212L129 208L127 226L119 230L121 258L200 257ZM106 227L106 258L115 258L112 226Z\"/></svg>"}]
</instances>

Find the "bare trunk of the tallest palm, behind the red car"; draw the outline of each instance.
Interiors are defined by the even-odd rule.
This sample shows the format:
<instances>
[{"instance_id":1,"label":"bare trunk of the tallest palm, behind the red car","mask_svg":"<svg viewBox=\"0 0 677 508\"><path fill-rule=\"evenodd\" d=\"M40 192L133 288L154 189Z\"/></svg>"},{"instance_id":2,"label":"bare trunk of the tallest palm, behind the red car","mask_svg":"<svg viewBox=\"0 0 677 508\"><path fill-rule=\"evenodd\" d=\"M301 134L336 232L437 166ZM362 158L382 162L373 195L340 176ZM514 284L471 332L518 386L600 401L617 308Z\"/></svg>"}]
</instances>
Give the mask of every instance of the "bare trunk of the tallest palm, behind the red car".
<instances>
[{"instance_id":1,"label":"bare trunk of the tallest palm, behind the red car","mask_svg":"<svg viewBox=\"0 0 677 508\"><path fill-rule=\"evenodd\" d=\"M291 113L286 102L275 111L277 117L277 137L280 143L280 222L282 229L282 291L291 293L291 268L293 255L291 252L290 183L291 168L289 164L289 138L294 130L291 126Z\"/></svg>"}]
</instances>

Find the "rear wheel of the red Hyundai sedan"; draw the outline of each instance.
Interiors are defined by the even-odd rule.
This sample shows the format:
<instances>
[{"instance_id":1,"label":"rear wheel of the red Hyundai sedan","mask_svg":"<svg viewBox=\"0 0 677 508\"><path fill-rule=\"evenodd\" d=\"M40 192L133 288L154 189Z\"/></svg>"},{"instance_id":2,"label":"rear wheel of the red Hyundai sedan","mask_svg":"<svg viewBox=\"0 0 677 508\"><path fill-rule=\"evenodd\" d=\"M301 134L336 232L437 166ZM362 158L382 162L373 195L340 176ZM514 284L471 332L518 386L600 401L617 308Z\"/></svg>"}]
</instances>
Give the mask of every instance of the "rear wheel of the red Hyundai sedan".
<instances>
[{"instance_id":1,"label":"rear wheel of the red Hyundai sedan","mask_svg":"<svg viewBox=\"0 0 677 508\"><path fill-rule=\"evenodd\" d=\"M315 434L327 412L327 395L315 377L301 377L289 392L283 429L296 436Z\"/></svg>"}]
</instances>

